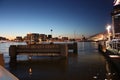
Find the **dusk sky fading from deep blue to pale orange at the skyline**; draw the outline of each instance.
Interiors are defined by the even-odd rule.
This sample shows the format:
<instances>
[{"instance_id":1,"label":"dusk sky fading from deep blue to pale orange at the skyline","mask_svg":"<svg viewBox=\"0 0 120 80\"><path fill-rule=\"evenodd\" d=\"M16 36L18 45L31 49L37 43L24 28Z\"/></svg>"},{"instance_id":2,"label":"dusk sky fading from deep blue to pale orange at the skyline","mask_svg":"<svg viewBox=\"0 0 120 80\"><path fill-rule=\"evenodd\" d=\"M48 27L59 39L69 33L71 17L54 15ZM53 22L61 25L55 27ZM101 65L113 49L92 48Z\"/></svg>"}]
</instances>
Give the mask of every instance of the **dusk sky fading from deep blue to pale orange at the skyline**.
<instances>
[{"instance_id":1,"label":"dusk sky fading from deep blue to pale orange at the skyline","mask_svg":"<svg viewBox=\"0 0 120 80\"><path fill-rule=\"evenodd\" d=\"M0 36L90 36L111 24L114 0L0 0Z\"/></svg>"}]
</instances>

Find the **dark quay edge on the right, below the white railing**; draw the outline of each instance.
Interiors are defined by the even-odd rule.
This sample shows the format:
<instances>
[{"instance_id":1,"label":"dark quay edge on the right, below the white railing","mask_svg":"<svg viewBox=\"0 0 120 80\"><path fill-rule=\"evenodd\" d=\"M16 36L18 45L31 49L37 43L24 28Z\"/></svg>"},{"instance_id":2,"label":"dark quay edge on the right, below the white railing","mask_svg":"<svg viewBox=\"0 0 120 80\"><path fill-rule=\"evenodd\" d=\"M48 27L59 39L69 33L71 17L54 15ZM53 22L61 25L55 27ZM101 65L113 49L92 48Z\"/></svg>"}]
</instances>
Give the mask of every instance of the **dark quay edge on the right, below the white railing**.
<instances>
[{"instance_id":1,"label":"dark quay edge on the right, below the white railing","mask_svg":"<svg viewBox=\"0 0 120 80\"><path fill-rule=\"evenodd\" d=\"M114 50L106 49L104 42L98 44L98 50L115 67L115 69L117 69L118 73L120 73L120 54Z\"/></svg>"}]
</instances>

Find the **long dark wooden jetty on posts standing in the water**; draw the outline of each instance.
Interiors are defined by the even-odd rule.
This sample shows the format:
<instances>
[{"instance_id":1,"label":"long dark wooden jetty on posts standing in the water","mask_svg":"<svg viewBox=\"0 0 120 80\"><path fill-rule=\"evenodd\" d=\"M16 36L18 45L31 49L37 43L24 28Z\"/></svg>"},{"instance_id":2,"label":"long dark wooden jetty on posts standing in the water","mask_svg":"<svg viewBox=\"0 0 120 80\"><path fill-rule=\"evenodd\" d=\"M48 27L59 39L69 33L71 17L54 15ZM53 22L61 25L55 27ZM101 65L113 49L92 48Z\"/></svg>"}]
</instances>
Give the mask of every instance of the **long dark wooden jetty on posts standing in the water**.
<instances>
[{"instance_id":1,"label":"long dark wooden jetty on posts standing in the water","mask_svg":"<svg viewBox=\"0 0 120 80\"><path fill-rule=\"evenodd\" d=\"M9 56L10 62L16 61L17 55L67 57L68 50L77 53L77 43L11 45L9 47Z\"/></svg>"}]
</instances>

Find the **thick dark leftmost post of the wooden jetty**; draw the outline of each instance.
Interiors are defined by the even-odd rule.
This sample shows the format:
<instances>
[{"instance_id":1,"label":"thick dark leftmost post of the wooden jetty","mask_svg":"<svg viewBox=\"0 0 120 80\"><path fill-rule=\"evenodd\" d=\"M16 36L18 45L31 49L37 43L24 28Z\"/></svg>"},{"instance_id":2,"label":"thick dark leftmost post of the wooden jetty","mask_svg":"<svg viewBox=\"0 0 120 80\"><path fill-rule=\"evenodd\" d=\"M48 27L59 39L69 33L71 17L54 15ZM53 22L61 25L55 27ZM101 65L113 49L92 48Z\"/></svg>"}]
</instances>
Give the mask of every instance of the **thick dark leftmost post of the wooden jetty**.
<instances>
[{"instance_id":1,"label":"thick dark leftmost post of the wooden jetty","mask_svg":"<svg viewBox=\"0 0 120 80\"><path fill-rule=\"evenodd\" d=\"M10 62L15 62L16 61L16 45L11 45L9 48L9 56L10 56Z\"/></svg>"}]
</instances>

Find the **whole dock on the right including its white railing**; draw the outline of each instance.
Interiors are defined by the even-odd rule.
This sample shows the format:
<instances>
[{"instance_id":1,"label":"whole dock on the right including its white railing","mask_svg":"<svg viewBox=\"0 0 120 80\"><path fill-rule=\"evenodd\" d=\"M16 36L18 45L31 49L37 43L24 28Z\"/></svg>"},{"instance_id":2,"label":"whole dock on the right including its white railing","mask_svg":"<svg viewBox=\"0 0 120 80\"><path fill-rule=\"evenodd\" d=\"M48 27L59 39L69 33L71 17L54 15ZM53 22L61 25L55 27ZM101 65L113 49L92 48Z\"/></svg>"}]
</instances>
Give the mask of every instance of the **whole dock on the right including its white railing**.
<instances>
[{"instance_id":1,"label":"whole dock on the right including its white railing","mask_svg":"<svg viewBox=\"0 0 120 80\"><path fill-rule=\"evenodd\" d=\"M110 45L112 46L110 47ZM113 44L109 44L106 41L100 41L98 43L98 50L120 73L120 43L114 42Z\"/></svg>"}]
</instances>

